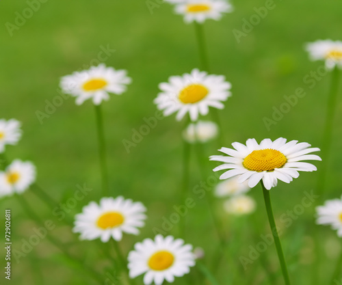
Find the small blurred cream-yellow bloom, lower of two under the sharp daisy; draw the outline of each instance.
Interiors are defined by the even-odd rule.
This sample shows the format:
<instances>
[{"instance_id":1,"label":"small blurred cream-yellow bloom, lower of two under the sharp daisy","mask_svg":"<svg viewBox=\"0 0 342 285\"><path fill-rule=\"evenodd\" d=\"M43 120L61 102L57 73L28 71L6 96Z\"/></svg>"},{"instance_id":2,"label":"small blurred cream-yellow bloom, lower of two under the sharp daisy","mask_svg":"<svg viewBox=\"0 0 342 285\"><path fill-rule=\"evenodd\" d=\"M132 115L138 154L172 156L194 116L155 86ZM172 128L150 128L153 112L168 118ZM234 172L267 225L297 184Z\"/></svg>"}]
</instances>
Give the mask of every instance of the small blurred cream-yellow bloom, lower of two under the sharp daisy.
<instances>
[{"instance_id":1,"label":"small blurred cream-yellow bloom, lower of two under the sharp daisy","mask_svg":"<svg viewBox=\"0 0 342 285\"><path fill-rule=\"evenodd\" d=\"M248 195L235 196L224 202L224 210L234 215L247 215L253 213L255 208L257 208L257 204Z\"/></svg>"}]
</instances>

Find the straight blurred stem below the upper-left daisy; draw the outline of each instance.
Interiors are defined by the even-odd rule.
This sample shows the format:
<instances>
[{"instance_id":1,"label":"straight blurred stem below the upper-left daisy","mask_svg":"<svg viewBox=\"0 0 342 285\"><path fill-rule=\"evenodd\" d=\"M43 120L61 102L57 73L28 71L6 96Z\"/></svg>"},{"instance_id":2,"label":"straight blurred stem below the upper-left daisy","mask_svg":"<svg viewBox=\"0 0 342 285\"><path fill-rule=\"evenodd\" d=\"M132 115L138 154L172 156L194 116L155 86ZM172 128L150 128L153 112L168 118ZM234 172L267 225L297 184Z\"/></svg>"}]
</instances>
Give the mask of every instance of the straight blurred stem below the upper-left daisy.
<instances>
[{"instance_id":1,"label":"straight blurred stem below the upper-left daisy","mask_svg":"<svg viewBox=\"0 0 342 285\"><path fill-rule=\"evenodd\" d=\"M108 185L108 170L107 170L107 152L105 146L105 131L103 129L103 116L101 105L95 105L95 116L96 116L96 127L98 136L98 154L101 165L101 176L102 176L102 190L103 195L109 195Z\"/></svg>"}]
</instances>

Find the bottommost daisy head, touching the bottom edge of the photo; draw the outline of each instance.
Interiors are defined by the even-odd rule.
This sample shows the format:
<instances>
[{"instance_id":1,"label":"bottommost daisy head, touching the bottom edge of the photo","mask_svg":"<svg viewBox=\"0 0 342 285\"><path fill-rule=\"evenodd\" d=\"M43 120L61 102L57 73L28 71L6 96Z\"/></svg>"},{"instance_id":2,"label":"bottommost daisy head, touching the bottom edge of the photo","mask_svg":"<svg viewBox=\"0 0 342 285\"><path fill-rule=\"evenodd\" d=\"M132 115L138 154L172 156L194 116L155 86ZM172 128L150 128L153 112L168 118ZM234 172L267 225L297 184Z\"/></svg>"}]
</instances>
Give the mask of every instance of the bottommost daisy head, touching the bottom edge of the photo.
<instances>
[{"instance_id":1,"label":"bottommost daisy head, touching the bottom edge of the photo","mask_svg":"<svg viewBox=\"0 0 342 285\"><path fill-rule=\"evenodd\" d=\"M129 277L134 278L143 273L144 284L161 285L164 280L174 282L174 277L181 277L195 265L192 245L184 245L182 239L173 236L164 238L160 234L155 240L145 239L136 243L135 250L129 253Z\"/></svg>"}]
</instances>

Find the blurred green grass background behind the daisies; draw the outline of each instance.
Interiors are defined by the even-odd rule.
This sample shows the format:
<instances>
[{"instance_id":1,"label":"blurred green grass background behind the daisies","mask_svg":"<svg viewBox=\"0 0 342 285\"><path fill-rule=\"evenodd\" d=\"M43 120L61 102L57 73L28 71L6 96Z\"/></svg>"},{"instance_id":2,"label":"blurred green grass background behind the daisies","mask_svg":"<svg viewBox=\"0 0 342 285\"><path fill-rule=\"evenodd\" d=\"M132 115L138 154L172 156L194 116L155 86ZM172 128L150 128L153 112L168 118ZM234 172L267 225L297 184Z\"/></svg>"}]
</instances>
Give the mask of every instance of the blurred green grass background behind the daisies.
<instances>
[{"instance_id":1,"label":"blurred green grass background behind the daisies","mask_svg":"<svg viewBox=\"0 0 342 285\"><path fill-rule=\"evenodd\" d=\"M52 102L55 96L60 96L60 77L88 68L101 52L101 46L115 50L105 64L127 69L133 78L125 94L111 96L103 105L112 195L142 201L148 208L142 234L124 236L121 243L124 252L132 249L133 243L153 237L153 228L160 227L161 217L169 217L174 211L172 207L179 204L183 148L180 134L184 123L176 122L174 116L160 120L130 153L125 150L122 139L131 140L133 129L139 130L145 124L144 118L155 115L153 99L158 93L158 83L167 81L170 75L200 67L194 26L185 25L168 3L152 2L157 3L153 14L145 1L137 0L46 1L40 3L41 7L25 25L12 31L12 36L6 23L14 24L15 13L23 14L29 5L23 0L0 3L0 118L20 120L24 130L20 144L9 146L6 155L10 159L33 161L38 168L38 184L59 202L73 197L77 185L86 184L94 189L70 211L71 219L88 202L101 198L94 107L88 101L78 107L74 98L68 98L42 124L36 112L44 112L47 100ZM303 46L318 39L341 40L342 3L336 0L274 3L276 8L269 10L239 43L233 29L242 31L244 18L249 21L256 14L254 8L264 6L265 1L234 1L235 12L220 22L205 23L211 72L224 74L233 85L233 96L220 111L227 147L233 141L244 142L250 137L259 141L265 137L286 137L321 146L330 74L321 77L313 88L304 83L304 77L317 71L322 63L310 62ZM263 119L272 119L273 108L279 108L286 102L283 96L293 94L298 87L305 90L306 96L267 130ZM326 191L319 198L319 204L341 195L341 114L340 92ZM208 144L203 155L218 154L219 147L215 142ZM320 164L315 164L319 168ZM205 165L208 176L214 166L215 163ZM192 155L192 185L199 179L198 165ZM279 182L272 190L276 217L300 204L305 191L316 191L316 180L317 173L302 173L291 185ZM58 221L53 208L32 192L23 195L25 200L41 219L51 219L57 225L49 234L70 247L70 252L85 264L94 267L103 284L124 284L124 280L105 283L107 275L103 272L112 273L113 264L98 252L95 245L99 243L78 241L71 226ZM220 262L216 275L220 284L282 284L274 245L246 271L239 262L239 256L248 256L250 246L255 247L261 241L260 234L269 232L261 189L256 187L250 193L257 200L258 208L248 217L228 217L222 211L222 202L218 200L215 205L229 241L227 260ZM37 225L27 217L15 197L0 203L1 209L12 209L13 249L21 250L23 239L27 241ZM207 257L203 262L210 267L217 238L205 200L196 200L196 204L187 215L186 242L205 249ZM324 252L319 257L313 249L314 230L321 231ZM170 234L177 236L176 226ZM313 206L284 229L282 242L293 284L319 284L312 280L315 258L320 262L321 284L327 284L334 262L341 254L341 239L328 227L315 226ZM10 284L96 284L75 264L65 260L47 239L42 239L18 263L12 261ZM185 284L188 278L196 280L197 277L194 269L190 277L179 278L174 284ZM1 280L1 284L6 284L5 281ZM137 284L142 284L141 279Z\"/></svg>"}]
</instances>

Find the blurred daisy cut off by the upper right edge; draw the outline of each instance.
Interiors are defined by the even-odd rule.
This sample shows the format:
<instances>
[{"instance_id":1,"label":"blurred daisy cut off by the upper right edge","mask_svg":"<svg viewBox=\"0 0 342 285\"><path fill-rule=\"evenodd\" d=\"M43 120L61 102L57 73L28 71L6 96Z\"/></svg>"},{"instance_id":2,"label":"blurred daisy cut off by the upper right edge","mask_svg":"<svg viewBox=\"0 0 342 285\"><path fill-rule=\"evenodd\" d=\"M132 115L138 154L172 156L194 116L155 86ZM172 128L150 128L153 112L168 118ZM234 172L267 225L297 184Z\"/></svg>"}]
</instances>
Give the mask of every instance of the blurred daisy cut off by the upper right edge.
<instances>
[{"instance_id":1,"label":"blurred daisy cut off by the upper right edge","mask_svg":"<svg viewBox=\"0 0 342 285\"><path fill-rule=\"evenodd\" d=\"M311 60L325 60L329 69L334 66L342 68L342 42L337 40L317 40L306 44Z\"/></svg>"}]
</instances>

